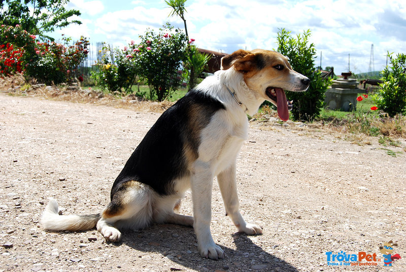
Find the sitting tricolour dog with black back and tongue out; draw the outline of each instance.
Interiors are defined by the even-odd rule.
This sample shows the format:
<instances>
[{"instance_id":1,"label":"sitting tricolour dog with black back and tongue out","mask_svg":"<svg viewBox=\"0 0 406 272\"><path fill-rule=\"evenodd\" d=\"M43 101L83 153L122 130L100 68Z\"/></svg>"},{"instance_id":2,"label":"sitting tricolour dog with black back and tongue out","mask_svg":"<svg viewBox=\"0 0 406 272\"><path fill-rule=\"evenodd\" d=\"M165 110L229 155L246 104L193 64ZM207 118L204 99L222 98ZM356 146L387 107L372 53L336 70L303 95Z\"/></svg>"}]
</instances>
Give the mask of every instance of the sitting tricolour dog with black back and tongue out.
<instances>
[{"instance_id":1,"label":"sitting tricolour dog with black back and tongue out","mask_svg":"<svg viewBox=\"0 0 406 272\"><path fill-rule=\"evenodd\" d=\"M305 91L310 79L292 70L280 53L238 50L221 59L221 70L207 77L166 110L134 150L111 189L111 202L95 215L58 215L54 199L42 215L51 231L97 227L107 241L120 230L150 224L193 226L202 257L224 257L210 232L213 179L217 176L228 215L238 231L260 234L239 212L236 157L248 138L248 115L267 100L279 117L289 118L285 90ZM193 217L175 210L191 189Z\"/></svg>"}]
</instances>

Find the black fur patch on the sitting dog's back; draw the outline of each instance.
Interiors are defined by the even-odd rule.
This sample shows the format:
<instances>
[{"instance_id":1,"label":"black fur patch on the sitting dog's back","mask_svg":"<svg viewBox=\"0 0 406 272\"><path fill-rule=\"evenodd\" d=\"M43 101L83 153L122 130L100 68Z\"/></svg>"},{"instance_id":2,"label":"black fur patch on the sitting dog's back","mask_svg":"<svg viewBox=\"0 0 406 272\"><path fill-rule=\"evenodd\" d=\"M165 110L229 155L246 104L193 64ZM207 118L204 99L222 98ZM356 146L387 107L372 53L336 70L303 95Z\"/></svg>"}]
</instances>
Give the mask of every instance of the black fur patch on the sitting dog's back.
<instances>
[{"instance_id":1,"label":"black fur patch on the sitting dog's back","mask_svg":"<svg viewBox=\"0 0 406 272\"><path fill-rule=\"evenodd\" d=\"M219 110L225 110L225 106L199 90L179 99L158 118L134 150L114 181L111 199L130 180L147 184L161 195L172 194L172 181L190 175L187 165L197 158L200 131Z\"/></svg>"}]
</instances>

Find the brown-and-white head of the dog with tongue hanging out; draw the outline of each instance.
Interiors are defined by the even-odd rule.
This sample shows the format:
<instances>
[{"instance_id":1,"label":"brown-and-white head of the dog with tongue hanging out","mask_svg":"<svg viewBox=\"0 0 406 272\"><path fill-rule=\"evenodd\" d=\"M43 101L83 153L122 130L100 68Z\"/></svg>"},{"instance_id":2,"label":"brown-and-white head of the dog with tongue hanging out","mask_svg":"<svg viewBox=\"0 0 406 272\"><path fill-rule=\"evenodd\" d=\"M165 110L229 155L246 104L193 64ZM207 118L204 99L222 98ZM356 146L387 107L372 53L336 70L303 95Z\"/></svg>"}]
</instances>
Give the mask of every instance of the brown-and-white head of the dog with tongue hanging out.
<instances>
[{"instance_id":1,"label":"brown-and-white head of the dog with tongue hanging out","mask_svg":"<svg viewBox=\"0 0 406 272\"><path fill-rule=\"evenodd\" d=\"M289 119L289 104L285 91L306 91L310 79L293 71L284 55L262 49L238 50L221 59L221 70L230 69L242 73L250 90L259 99L270 101L278 108L279 117Z\"/></svg>"}]
</instances>

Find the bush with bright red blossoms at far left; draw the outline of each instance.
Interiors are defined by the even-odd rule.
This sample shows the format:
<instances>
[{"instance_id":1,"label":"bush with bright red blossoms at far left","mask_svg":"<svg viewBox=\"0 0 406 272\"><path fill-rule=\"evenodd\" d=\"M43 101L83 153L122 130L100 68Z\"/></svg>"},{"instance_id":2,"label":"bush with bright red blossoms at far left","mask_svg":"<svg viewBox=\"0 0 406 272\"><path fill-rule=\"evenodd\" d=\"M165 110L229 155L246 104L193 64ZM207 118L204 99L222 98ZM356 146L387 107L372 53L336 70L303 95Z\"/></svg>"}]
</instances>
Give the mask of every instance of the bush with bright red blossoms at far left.
<instances>
[{"instance_id":1,"label":"bush with bright red blossoms at far left","mask_svg":"<svg viewBox=\"0 0 406 272\"><path fill-rule=\"evenodd\" d=\"M89 41L82 37L69 46L70 38L62 38L64 45L36 39L19 25L0 26L0 40L8 42L2 48L0 66L3 72L0 73L4 76L24 73L24 76L46 84L66 82L77 76L77 67L88 53Z\"/></svg>"}]
</instances>

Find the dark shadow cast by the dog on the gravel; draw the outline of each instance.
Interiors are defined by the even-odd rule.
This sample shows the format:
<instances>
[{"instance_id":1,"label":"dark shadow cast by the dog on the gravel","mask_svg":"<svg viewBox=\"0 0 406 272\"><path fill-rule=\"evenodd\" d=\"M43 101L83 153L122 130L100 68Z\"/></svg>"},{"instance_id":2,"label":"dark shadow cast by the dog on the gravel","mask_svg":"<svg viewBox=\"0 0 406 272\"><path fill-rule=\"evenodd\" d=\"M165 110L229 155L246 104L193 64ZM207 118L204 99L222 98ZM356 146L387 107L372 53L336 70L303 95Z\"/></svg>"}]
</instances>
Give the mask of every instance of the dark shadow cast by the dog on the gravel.
<instances>
[{"instance_id":1,"label":"dark shadow cast by the dog on the gravel","mask_svg":"<svg viewBox=\"0 0 406 272\"><path fill-rule=\"evenodd\" d=\"M280 259L261 247L254 244L251 239L242 233L234 233L229 239L233 240L235 249L222 246L214 241L224 250L225 258L218 261L201 258L197 251L197 240L193 228L172 224L153 225L140 231L123 231L122 242L130 248L142 251L146 254L134 256L143 262L143 258L150 258L149 252L159 252L166 258L179 264L168 264L175 268L188 267L197 271L298 271L294 266L283 259ZM115 243L116 244L116 243ZM117 244L116 244L117 245ZM279 267L279 268L278 268Z\"/></svg>"}]
</instances>

